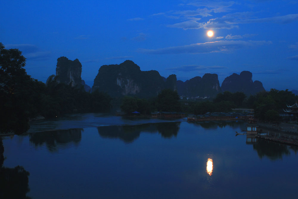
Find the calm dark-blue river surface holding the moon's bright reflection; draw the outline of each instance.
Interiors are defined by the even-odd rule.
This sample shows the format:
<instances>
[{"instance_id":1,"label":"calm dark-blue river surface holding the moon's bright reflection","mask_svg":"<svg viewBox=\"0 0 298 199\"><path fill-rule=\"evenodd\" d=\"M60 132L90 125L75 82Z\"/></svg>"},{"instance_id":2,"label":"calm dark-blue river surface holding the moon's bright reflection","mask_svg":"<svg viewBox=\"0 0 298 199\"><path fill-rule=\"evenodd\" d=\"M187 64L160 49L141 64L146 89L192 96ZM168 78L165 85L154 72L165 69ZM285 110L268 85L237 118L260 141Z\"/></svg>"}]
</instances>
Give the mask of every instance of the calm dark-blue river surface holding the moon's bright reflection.
<instances>
[{"instance_id":1,"label":"calm dark-blue river surface holding the moon's bright reflection","mask_svg":"<svg viewBox=\"0 0 298 199\"><path fill-rule=\"evenodd\" d=\"M122 122L3 137L3 166L31 198L297 198L297 148L235 136L242 121Z\"/></svg>"}]
</instances>

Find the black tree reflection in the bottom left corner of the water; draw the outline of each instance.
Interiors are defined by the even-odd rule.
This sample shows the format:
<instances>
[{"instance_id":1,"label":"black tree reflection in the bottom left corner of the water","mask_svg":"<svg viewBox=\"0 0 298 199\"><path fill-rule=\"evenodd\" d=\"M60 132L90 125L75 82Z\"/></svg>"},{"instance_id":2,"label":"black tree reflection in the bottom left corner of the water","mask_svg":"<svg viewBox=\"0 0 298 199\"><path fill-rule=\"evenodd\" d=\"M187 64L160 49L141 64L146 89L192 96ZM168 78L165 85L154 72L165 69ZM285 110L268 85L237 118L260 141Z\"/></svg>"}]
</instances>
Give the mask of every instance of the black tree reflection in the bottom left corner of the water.
<instances>
[{"instance_id":1,"label":"black tree reflection in the bottom left corner of the water","mask_svg":"<svg viewBox=\"0 0 298 199\"><path fill-rule=\"evenodd\" d=\"M15 168L3 167L4 147L0 138L0 198L29 198L29 172L22 166Z\"/></svg>"}]
</instances>

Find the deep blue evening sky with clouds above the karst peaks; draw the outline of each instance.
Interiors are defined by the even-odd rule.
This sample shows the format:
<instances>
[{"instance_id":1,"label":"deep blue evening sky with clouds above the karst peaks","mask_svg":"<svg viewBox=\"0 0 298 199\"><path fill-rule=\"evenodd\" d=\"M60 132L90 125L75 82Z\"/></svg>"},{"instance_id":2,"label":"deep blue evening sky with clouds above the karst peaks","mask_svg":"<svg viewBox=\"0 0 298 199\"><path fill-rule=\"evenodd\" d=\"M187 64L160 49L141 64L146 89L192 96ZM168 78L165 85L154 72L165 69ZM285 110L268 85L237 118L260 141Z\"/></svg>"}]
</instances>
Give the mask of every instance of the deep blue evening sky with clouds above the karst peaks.
<instances>
[{"instance_id":1,"label":"deep blue evening sky with clouds above the karst peaks","mask_svg":"<svg viewBox=\"0 0 298 199\"><path fill-rule=\"evenodd\" d=\"M66 56L90 86L100 66L128 59L182 81L216 73L221 84L249 70L266 90L298 90L295 0L4 0L0 17L0 42L21 50L43 82Z\"/></svg>"}]
</instances>

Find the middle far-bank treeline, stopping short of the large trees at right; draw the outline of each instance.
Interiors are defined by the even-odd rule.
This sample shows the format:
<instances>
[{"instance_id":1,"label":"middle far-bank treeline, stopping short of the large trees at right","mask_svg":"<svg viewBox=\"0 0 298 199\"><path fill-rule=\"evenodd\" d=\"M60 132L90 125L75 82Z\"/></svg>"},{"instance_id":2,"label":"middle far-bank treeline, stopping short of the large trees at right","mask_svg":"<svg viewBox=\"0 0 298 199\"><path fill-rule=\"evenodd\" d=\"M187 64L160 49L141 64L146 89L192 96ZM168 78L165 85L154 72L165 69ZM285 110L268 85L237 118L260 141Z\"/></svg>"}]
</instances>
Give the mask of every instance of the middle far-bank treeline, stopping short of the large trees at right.
<instances>
[{"instance_id":1,"label":"middle far-bank treeline, stopping short of the large trees at right","mask_svg":"<svg viewBox=\"0 0 298 199\"><path fill-rule=\"evenodd\" d=\"M137 111L143 115L150 115L154 111L163 111L201 115L206 112L230 112L237 105L241 106L245 97L242 92L224 92L218 94L214 101L188 102L180 100L177 91L165 89L156 98L151 99L125 96L122 100L121 109L126 114Z\"/></svg>"}]
</instances>

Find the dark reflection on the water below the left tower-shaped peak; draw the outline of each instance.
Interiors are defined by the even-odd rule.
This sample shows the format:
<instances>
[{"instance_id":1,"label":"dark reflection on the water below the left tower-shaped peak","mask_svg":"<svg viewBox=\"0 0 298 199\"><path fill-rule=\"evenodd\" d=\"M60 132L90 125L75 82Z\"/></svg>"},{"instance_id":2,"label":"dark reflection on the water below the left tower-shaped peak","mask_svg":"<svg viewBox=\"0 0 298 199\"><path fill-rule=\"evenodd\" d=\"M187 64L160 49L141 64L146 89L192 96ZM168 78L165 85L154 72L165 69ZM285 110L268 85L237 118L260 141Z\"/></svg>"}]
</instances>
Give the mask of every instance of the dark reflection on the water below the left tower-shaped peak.
<instances>
[{"instance_id":1,"label":"dark reflection on the water below the left tower-shaped peak","mask_svg":"<svg viewBox=\"0 0 298 199\"><path fill-rule=\"evenodd\" d=\"M30 142L35 146L41 146L46 144L49 151L54 152L58 150L58 144L74 143L78 144L81 141L83 129L68 129L68 130L56 130L40 133L31 133Z\"/></svg>"}]
</instances>

